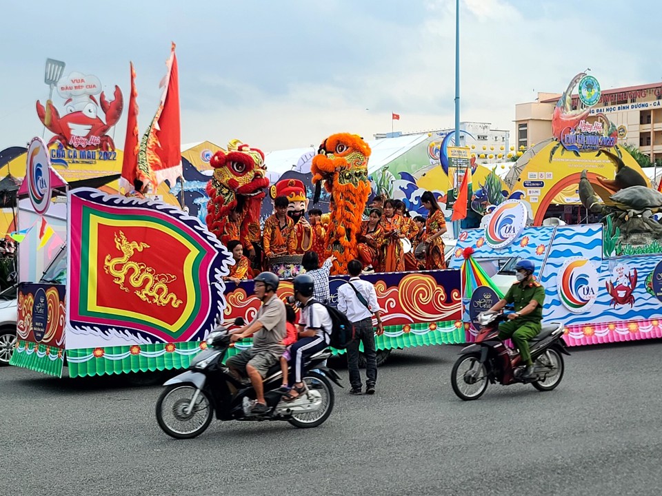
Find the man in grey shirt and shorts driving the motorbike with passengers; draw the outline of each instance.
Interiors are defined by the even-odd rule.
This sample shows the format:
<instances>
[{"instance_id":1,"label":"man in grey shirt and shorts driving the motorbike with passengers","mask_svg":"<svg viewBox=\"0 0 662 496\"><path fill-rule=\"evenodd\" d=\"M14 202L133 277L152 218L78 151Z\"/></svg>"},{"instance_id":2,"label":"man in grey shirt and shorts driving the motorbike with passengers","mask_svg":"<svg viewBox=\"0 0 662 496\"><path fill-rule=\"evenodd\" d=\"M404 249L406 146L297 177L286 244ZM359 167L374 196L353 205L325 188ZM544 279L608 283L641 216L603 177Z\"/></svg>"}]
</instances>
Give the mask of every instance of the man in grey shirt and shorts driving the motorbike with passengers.
<instances>
[{"instance_id":1,"label":"man in grey shirt and shorts driving the motorbike with passengers","mask_svg":"<svg viewBox=\"0 0 662 496\"><path fill-rule=\"evenodd\" d=\"M255 390L255 403L251 413L266 413L262 380L267 371L277 364L285 351L281 342L285 339L285 304L276 295L279 278L272 272L262 272L254 279L254 293L262 300L262 306L250 324L232 331L232 342L253 336L253 346L228 358L225 364L234 373L248 374Z\"/></svg>"}]
</instances>

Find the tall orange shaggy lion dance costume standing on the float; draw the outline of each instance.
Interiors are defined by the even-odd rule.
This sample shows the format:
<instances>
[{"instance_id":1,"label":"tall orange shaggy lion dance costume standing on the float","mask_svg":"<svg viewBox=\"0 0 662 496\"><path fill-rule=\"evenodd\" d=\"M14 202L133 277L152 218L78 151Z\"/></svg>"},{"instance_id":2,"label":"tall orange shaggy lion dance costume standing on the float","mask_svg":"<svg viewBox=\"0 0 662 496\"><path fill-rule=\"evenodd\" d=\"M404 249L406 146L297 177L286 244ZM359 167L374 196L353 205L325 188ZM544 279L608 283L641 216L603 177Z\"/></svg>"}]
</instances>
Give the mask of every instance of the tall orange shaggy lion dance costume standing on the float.
<instances>
[{"instance_id":1,"label":"tall orange shaggy lion dance costume standing on the float","mask_svg":"<svg viewBox=\"0 0 662 496\"><path fill-rule=\"evenodd\" d=\"M368 180L370 147L357 134L333 134L320 145L312 159L314 203L319 200L321 183L331 195L332 210L327 230L327 255L334 255L332 273L347 273L350 260L359 255L357 234L365 202L370 196Z\"/></svg>"}]
</instances>

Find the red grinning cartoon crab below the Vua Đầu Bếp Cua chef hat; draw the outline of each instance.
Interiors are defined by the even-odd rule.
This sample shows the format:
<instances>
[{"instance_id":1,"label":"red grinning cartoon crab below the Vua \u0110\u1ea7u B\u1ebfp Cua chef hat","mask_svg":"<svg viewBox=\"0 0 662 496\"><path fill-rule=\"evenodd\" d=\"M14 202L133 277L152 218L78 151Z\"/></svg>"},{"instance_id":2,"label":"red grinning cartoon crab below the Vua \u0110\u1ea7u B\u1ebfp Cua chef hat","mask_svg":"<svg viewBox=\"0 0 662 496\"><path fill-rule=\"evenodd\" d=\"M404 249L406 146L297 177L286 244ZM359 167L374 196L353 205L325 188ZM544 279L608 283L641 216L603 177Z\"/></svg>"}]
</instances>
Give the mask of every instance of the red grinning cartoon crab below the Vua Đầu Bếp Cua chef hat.
<instances>
[{"instance_id":1,"label":"red grinning cartoon crab below the Vua \u0110\u1ea7u B\u1ebfp Cua chef hat","mask_svg":"<svg viewBox=\"0 0 662 496\"><path fill-rule=\"evenodd\" d=\"M48 130L55 134L50 139L48 145L59 141L64 146L74 146L77 149L102 149L110 151L115 149L115 144L110 136L106 135L108 130L114 126L122 114L124 101L119 86L115 86L114 100L107 101L106 94L101 92L99 96L99 105L97 105L94 96L90 95L87 102L79 105L72 99L66 101L66 114L60 116L54 105L48 102L51 119L46 124L46 109L37 101L37 115L39 119L48 127ZM99 107L106 116L106 122L99 117Z\"/></svg>"}]
</instances>

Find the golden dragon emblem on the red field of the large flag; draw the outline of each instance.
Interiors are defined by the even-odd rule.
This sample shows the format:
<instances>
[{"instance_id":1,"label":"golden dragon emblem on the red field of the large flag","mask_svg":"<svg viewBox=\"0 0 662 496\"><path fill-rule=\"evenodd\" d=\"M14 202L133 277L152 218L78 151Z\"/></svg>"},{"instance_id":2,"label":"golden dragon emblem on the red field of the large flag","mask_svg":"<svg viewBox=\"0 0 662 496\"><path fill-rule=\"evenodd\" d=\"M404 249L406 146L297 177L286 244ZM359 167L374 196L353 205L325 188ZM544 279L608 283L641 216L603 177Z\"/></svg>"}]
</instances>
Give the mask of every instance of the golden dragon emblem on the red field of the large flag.
<instances>
[{"instance_id":1,"label":"golden dragon emblem on the red field of the large flag","mask_svg":"<svg viewBox=\"0 0 662 496\"><path fill-rule=\"evenodd\" d=\"M150 245L144 242L129 241L124 233L119 231L119 234L115 233L115 247L123 255L115 258L107 255L103 264L106 273L114 277L112 282L130 293L131 289L125 286L125 283L128 282L141 300L156 303L159 307L171 304L173 308L177 308L181 305L181 300L177 298L177 295L170 293L170 289L168 289L168 283L176 280L177 276L170 273L157 273L145 263L131 260L136 251L143 251ZM130 276L129 273L131 273Z\"/></svg>"}]
</instances>

